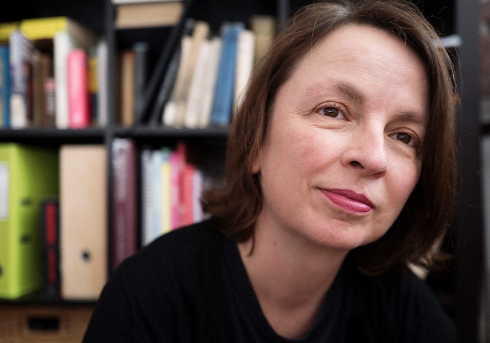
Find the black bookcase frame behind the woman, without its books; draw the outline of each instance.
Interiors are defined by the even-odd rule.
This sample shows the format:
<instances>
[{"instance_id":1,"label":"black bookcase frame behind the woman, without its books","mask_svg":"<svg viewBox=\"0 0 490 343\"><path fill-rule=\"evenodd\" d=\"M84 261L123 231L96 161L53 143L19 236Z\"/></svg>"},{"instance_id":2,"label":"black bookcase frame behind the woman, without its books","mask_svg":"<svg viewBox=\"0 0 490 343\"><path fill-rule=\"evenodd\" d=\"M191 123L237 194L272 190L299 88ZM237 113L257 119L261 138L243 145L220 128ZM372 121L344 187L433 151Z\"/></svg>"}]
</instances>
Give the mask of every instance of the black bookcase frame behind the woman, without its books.
<instances>
[{"instance_id":1,"label":"black bookcase frame behind the woman, without its books","mask_svg":"<svg viewBox=\"0 0 490 343\"><path fill-rule=\"evenodd\" d=\"M311 0L184 0L184 15L209 23L212 32L218 33L224 21L242 21L254 14L275 16L280 27L284 21L300 7ZM490 132L488 124L480 124L479 95L479 36L480 6L478 0L416 1L432 24L443 36L457 34L463 44L453 49L457 61L461 106L458 112L458 132L460 145L459 169L462 175L458 192L456 217L450 234L443 247L455 255L448 269L430 274L427 282L440 297L441 303L455 319L460 331L461 342L482 340L482 287L484 283L484 229L481 199L480 136L481 132ZM130 48L137 41L146 41L150 50L151 75L148 79L147 107L151 110L156 97L157 86L169 65L171 52L179 43L175 26L116 28L114 25L115 7L111 0L20 0L11 4L10 10L0 13L0 22L10 22L25 18L50 16L69 16L93 29L107 41L109 59L107 91L108 122L104 127L85 129L30 128L21 130L0 129L0 142L26 143L36 146L59 148L64 144L101 144L106 147L107 194L113 192L114 180L111 170L111 146L116 138L132 138L138 151L145 146L174 146L177 141L185 140L194 155L199 156L205 168L220 173L227 137L227 128L175 129L137 123L124 127L118 123L119 107L119 60L118 52ZM141 194L139 194L141 195ZM107 203L109 213L111 203ZM141 215L138 218L141 221ZM114 238L107 222L108 241ZM107 267L109 270L109 266ZM90 309L93 301L45 301L36 297L26 297L15 301L0 301L0 309L82 307ZM52 317L52 316L51 316ZM49 317L49 318L51 318ZM487 318L487 320L490 320ZM1 325L0 325L1 327ZM488 337L487 337L488 339Z\"/></svg>"}]
</instances>

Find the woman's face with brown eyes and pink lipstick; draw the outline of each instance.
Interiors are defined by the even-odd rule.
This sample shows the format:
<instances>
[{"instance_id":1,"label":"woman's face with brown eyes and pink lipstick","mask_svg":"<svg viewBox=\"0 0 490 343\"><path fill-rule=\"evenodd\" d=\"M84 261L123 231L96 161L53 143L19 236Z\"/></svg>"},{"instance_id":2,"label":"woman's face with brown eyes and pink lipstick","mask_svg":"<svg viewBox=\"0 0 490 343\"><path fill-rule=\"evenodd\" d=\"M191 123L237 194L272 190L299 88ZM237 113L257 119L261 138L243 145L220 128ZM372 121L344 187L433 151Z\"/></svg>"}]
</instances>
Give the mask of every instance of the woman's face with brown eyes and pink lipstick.
<instances>
[{"instance_id":1,"label":"woman's face with brown eyes and pink lipstick","mask_svg":"<svg viewBox=\"0 0 490 343\"><path fill-rule=\"evenodd\" d=\"M428 80L389 33L345 25L279 88L263 146L257 225L350 250L380 238L420 175Z\"/></svg>"}]
</instances>

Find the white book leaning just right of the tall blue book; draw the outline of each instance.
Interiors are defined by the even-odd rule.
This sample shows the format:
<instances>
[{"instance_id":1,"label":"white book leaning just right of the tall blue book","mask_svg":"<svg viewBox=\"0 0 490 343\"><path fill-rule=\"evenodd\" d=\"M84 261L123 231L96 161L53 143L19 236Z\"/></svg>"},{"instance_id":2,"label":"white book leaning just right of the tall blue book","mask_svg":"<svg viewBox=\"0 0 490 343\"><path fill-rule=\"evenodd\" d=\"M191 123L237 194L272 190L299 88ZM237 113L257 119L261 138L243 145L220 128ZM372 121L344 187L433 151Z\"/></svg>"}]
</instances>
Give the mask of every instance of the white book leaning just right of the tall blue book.
<instances>
[{"instance_id":1,"label":"white book leaning just right of the tall blue book","mask_svg":"<svg viewBox=\"0 0 490 343\"><path fill-rule=\"evenodd\" d=\"M250 74L254 64L255 34L251 30L243 30L238 36L237 64L235 68L235 90L233 100L239 107L245 96Z\"/></svg>"}]
</instances>

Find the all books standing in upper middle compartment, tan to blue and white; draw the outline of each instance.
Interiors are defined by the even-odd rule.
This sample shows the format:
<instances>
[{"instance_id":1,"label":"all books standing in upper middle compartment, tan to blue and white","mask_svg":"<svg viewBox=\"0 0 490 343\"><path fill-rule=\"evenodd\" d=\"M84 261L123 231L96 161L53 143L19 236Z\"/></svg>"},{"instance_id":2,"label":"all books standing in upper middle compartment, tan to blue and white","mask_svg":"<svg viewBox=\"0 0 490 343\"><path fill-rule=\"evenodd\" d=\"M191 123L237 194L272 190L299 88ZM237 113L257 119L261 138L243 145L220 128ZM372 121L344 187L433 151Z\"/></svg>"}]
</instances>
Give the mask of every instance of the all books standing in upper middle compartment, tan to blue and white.
<instances>
[{"instance_id":1,"label":"all books standing in upper middle compartment, tan to blue and white","mask_svg":"<svg viewBox=\"0 0 490 343\"><path fill-rule=\"evenodd\" d=\"M160 56L169 62L162 79L153 83L154 98L145 99L138 91L145 85L138 80L152 74L148 73L145 58L148 48L141 48L144 42L122 51L121 123L124 126L149 123L192 129L226 127L234 107L242 101L253 66L275 36L276 25L271 16L255 15L250 20L250 28L243 22L225 22L220 32L214 34L205 21L188 18L182 19L182 23L176 48L170 53L164 50L167 54ZM147 93L152 91L148 87L147 82L144 89ZM152 103L142 115L145 100Z\"/></svg>"}]
</instances>

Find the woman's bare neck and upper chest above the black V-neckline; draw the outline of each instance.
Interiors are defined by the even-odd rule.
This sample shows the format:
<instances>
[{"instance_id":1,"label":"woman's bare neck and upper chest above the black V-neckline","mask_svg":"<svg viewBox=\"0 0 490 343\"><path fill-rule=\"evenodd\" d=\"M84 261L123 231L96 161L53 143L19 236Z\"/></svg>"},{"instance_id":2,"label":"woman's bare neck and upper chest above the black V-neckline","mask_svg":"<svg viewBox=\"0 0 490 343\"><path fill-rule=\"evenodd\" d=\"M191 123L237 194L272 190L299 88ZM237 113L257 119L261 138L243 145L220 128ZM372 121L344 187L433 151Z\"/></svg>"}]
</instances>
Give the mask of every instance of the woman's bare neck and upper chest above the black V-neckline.
<instances>
[{"instance_id":1,"label":"woman's bare neck and upper chest above the black V-neckline","mask_svg":"<svg viewBox=\"0 0 490 343\"><path fill-rule=\"evenodd\" d=\"M348 252L260 222L238 249L266 319L286 338L311 327Z\"/></svg>"}]
</instances>

